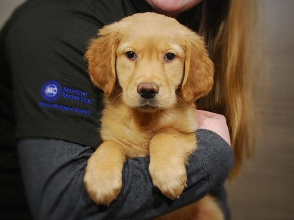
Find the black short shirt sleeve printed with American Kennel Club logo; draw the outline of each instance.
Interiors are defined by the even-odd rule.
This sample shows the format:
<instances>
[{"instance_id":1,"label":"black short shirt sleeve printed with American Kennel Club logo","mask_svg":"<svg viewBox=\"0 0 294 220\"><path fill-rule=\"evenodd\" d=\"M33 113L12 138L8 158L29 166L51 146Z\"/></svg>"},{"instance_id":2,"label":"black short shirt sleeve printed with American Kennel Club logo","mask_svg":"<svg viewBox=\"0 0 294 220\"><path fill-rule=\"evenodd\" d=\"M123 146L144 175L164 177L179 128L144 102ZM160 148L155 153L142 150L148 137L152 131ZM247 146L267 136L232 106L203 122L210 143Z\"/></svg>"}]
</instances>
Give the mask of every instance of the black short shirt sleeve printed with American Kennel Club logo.
<instances>
[{"instance_id":1,"label":"black short shirt sleeve printed with American Kennel Club logo","mask_svg":"<svg viewBox=\"0 0 294 220\"><path fill-rule=\"evenodd\" d=\"M13 13L1 40L16 138L97 147L103 95L83 56L99 28L123 17L120 0L26 1Z\"/></svg>"}]
</instances>

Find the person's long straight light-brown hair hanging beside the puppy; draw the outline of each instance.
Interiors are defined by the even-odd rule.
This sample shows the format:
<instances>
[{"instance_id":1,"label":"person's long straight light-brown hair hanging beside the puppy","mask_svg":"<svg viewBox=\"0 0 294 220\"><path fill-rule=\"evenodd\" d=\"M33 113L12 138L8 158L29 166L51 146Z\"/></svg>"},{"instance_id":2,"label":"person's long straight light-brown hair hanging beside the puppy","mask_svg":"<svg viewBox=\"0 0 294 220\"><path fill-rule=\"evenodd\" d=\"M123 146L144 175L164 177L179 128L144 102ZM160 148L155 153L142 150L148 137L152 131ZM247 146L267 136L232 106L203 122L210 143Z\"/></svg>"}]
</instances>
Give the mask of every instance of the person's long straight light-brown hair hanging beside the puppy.
<instances>
[{"instance_id":1,"label":"person's long straight light-brown hair hanging beside the puppy","mask_svg":"<svg viewBox=\"0 0 294 220\"><path fill-rule=\"evenodd\" d=\"M225 116L235 154L231 177L251 155L253 115L249 55L255 19L254 0L204 0L198 7L198 33L205 39L215 65L214 87L197 108Z\"/></svg>"}]
</instances>

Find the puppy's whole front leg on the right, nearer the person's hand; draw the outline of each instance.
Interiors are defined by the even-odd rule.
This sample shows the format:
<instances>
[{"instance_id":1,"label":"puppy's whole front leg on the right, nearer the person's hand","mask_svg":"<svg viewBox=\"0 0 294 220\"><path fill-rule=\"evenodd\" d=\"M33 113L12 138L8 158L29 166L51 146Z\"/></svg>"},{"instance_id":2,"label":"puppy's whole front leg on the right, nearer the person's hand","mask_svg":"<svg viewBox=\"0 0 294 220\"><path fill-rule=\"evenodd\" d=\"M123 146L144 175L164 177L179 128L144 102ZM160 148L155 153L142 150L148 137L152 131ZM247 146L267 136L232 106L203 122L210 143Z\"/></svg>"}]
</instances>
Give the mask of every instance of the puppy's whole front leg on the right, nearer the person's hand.
<instances>
[{"instance_id":1,"label":"puppy's whole front leg on the right, nearer the person's hand","mask_svg":"<svg viewBox=\"0 0 294 220\"><path fill-rule=\"evenodd\" d=\"M149 172L156 186L166 197L178 198L187 182L185 163L196 149L194 133L184 134L167 128L157 132L149 143Z\"/></svg>"}]
</instances>

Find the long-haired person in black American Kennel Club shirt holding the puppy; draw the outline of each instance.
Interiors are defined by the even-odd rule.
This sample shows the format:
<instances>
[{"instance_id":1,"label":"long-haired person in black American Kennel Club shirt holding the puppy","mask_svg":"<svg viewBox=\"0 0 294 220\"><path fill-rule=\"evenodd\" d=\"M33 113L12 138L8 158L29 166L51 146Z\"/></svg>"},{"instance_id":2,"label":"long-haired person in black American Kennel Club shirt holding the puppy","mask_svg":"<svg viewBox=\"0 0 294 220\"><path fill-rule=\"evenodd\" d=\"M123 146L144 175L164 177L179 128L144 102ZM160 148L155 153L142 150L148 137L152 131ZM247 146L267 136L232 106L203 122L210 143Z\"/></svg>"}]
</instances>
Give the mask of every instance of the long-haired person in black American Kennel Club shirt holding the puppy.
<instances>
[{"instance_id":1,"label":"long-haired person in black American Kennel Club shirt holding the puppy","mask_svg":"<svg viewBox=\"0 0 294 220\"><path fill-rule=\"evenodd\" d=\"M2 215L26 217L21 188L7 188L8 183L19 184L17 148L34 219L151 219L206 194L219 199L230 219L223 188L234 162L230 144L236 172L248 135L248 111L240 103L248 99L246 60L242 60L247 39L238 32L244 26L236 23L242 21L242 7L249 3L239 4L234 0L28 0L18 8L0 34L1 161L5 161L1 188L6 204ZM187 166L193 184L171 201L153 187L148 158L136 157L124 164L119 197L109 207L96 206L87 195L83 176L100 143L102 93L92 85L83 56L99 28L147 11L174 17L198 32L216 67L212 92L197 102L198 149ZM237 63L244 66L237 68ZM23 215L9 209L23 210Z\"/></svg>"}]
</instances>

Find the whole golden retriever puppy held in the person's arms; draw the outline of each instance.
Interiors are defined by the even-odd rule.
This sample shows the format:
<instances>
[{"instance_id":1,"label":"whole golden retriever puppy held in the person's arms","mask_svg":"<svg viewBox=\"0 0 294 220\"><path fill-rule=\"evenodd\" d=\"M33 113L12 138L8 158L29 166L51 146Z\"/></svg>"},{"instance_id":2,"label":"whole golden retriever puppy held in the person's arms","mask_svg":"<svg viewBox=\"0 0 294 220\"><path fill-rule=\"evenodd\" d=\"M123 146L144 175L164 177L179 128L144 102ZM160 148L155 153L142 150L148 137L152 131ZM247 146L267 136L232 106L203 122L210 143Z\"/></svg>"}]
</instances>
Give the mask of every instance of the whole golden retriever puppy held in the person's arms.
<instances>
[{"instance_id":1,"label":"whole golden retriever puppy held in the person's arms","mask_svg":"<svg viewBox=\"0 0 294 220\"><path fill-rule=\"evenodd\" d=\"M196 150L194 103L213 86L214 67L203 41L175 19L135 14L103 27L85 58L91 80L105 95L102 144L84 177L90 197L109 205L122 188L125 158L149 156L154 186L178 198L188 156ZM209 197L196 206L186 207L182 218L194 212L199 219L222 219ZM179 219L180 212L161 219Z\"/></svg>"}]
</instances>

